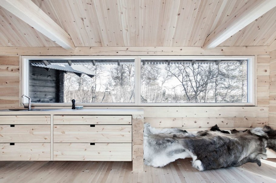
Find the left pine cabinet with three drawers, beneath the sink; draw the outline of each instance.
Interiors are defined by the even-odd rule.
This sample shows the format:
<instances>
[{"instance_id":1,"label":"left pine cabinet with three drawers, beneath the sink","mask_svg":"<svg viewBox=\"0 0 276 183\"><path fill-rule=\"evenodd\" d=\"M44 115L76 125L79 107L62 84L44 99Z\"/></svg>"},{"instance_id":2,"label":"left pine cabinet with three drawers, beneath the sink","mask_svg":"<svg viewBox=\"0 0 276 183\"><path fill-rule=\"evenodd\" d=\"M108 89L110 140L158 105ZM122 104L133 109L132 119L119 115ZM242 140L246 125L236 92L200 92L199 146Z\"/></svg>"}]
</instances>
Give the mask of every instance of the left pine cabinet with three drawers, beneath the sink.
<instances>
[{"instance_id":1,"label":"left pine cabinet with three drawers, beneath the sink","mask_svg":"<svg viewBox=\"0 0 276 183\"><path fill-rule=\"evenodd\" d=\"M49 161L50 115L0 116L0 161Z\"/></svg>"}]
</instances>

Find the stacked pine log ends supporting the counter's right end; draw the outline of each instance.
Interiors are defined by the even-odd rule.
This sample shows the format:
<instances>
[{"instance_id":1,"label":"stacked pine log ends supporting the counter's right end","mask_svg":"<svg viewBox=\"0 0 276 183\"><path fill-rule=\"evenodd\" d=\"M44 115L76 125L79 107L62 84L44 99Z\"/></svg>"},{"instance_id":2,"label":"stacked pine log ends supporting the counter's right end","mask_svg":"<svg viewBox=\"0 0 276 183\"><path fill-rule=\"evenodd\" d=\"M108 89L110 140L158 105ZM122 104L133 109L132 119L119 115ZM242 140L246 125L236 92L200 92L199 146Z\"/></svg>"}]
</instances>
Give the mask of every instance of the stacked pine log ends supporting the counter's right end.
<instances>
[{"instance_id":1,"label":"stacked pine log ends supporting the counter's right end","mask_svg":"<svg viewBox=\"0 0 276 183\"><path fill-rule=\"evenodd\" d=\"M144 115L132 115L132 170L141 172L144 166Z\"/></svg>"}]
</instances>

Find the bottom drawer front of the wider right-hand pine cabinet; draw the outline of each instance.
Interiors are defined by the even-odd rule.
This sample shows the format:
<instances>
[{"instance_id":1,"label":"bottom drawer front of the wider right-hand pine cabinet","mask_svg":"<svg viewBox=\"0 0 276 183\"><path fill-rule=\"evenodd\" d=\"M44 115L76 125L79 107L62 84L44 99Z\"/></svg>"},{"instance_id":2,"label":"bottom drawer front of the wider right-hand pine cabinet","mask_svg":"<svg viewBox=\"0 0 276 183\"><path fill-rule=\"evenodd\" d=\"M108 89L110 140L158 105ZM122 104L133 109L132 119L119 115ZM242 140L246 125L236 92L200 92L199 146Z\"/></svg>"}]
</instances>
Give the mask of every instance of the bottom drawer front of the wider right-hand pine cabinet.
<instances>
[{"instance_id":1,"label":"bottom drawer front of the wider right-hand pine cabinet","mask_svg":"<svg viewBox=\"0 0 276 183\"><path fill-rule=\"evenodd\" d=\"M131 161L131 143L54 143L54 161Z\"/></svg>"}]
</instances>

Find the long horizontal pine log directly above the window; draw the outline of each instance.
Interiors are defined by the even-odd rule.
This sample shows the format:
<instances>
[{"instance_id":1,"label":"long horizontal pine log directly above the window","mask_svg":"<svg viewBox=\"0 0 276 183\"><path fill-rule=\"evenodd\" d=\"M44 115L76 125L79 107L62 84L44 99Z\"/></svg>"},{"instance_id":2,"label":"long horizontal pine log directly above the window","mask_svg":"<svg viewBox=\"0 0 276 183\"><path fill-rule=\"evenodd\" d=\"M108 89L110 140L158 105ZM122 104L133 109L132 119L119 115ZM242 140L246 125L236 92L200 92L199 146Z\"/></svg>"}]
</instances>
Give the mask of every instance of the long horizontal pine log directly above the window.
<instances>
[{"instance_id":1,"label":"long horizontal pine log directly above the window","mask_svg":"<svg viewBox=\"0 0 276 183\"><path fill-rule=\"evenodd\" d=\"M0 56L16 55L269 55L268 46L215 47L0 47Z\"/></svg>"}]
</instances>

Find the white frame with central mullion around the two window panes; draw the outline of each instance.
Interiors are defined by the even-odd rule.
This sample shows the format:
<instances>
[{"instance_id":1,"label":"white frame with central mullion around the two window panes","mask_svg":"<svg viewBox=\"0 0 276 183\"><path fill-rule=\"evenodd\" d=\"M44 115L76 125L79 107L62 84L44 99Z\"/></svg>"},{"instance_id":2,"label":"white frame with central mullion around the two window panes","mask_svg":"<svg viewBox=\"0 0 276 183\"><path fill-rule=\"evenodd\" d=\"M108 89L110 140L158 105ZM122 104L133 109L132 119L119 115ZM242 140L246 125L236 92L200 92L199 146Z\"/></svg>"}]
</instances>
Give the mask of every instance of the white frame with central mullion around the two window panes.
<instances>
[{"instance_id":1,"label":"white frame with central mullion around the two window panes","mask_svg":"<svg viewBox=\"0 0 276 183\"><path fill-rule=\"evenodd\" d=\"M97 59L134 59L135 60L135 103L76 103L82 106L255 106L256 62L255 56L20 56L19 106L28 103L23 94L29 93L29 60L97 60ZM248 60L247 62L247 103L141 103L141 59L148 60ZM71 106L71 103L32 103L32 106Z\"/></svg>"}]
</instances>

